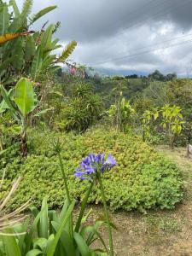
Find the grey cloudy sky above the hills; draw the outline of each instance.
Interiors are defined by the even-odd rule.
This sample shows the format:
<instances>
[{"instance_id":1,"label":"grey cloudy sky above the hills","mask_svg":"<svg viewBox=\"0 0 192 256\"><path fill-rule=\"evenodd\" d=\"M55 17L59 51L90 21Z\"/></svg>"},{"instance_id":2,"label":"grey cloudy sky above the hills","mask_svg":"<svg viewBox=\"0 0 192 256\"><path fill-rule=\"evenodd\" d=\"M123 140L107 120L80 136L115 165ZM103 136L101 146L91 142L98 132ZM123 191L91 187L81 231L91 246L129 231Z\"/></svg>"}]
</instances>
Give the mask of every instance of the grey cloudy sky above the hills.
<instances>
[{"instance_id":1,"label":"grey cloudy sky above the hills","mask_svg":"<svg viewBox=\"0 0 192 256\"><path fill-rule=\"evenodd\" d=\"M192 75L192 0L34 0L33 12L49 5L58 8L36 26L61 21L61 44L78 42L73 61Z\"/></svg>"}]
</instances>

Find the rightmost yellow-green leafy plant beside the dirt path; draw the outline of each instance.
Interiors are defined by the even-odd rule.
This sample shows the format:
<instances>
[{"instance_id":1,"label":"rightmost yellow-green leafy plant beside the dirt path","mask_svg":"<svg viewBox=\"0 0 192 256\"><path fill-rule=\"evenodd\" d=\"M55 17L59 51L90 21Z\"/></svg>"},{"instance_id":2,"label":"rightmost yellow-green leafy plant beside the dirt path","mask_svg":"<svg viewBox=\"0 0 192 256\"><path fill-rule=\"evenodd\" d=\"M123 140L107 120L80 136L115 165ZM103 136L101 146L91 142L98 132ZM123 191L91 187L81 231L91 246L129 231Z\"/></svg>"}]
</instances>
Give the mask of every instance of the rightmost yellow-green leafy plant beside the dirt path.
<instances>
[{"instance_id":1,"label":"rightmost yellow-green leafy plant beside the dirt path","mask_svg":"<svg viewBox=\"0 0 192 256\"><path fill-rule=\"evenodd\" d=\"M166 105L161 109L162 111L162 121L161 125L168 132L170 147L174 147L175 140L177 136L181 133L183 129L183 114L182 108L173 105Z\"/></svg>"}]
</instances>

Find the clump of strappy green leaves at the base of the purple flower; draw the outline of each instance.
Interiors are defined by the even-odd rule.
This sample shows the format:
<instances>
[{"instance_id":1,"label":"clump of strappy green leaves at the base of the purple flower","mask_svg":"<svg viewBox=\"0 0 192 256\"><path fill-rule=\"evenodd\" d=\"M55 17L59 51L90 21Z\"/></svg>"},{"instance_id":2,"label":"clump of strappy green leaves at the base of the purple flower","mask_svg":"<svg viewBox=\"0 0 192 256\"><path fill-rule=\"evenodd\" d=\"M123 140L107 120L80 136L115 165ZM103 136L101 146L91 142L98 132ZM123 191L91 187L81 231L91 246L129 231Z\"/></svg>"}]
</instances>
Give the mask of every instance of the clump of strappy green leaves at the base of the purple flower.
<instances>
[{"instance_id":1,"label":"clump of strappy green leaves at the base of the purple flower","mask_svg":"<svg viewBox=\"0 0 192 256\"><path fill-rule=\"evenodd\" d=\"M102 246L107 251L99 230L106 225L105 222L96 221L93 225L80 225L79 231L71 233L69 227L74 204L74 201L70 204L65 202L58 214L49 210L45 197L40 211L36 207L31 208L31 221L27 218L23 224L17 224L13 228L5 230L9 236L0 237L1 255L107 255L104 250L94 249L92 246L93 241L101 241Z\"/></svg>"}]
</instances>

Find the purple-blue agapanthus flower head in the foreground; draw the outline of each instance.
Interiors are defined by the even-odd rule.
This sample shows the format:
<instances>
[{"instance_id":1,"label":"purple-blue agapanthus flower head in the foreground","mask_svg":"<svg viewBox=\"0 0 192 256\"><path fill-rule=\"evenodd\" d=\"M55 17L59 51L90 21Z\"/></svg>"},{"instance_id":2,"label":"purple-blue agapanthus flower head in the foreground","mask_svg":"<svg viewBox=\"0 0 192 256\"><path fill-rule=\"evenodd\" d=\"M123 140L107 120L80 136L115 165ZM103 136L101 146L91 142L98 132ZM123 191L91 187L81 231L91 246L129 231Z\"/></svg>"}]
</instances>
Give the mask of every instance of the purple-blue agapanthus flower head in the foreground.
<instances>
[{"instance_id":1,"label":"purple-blue agapanthus flower head in the foreground","mask_svg":"<svg viewBox=\"0 0 192 256\"><path fill-rule=\"evenodd\" d=\"M96 172L105 172L116 166L111 154L108 154L105 160L105 154L89 154L82 160L79 168L76 169L74 175L80 179L92 179Z\"/></svg>"}]
</instances>

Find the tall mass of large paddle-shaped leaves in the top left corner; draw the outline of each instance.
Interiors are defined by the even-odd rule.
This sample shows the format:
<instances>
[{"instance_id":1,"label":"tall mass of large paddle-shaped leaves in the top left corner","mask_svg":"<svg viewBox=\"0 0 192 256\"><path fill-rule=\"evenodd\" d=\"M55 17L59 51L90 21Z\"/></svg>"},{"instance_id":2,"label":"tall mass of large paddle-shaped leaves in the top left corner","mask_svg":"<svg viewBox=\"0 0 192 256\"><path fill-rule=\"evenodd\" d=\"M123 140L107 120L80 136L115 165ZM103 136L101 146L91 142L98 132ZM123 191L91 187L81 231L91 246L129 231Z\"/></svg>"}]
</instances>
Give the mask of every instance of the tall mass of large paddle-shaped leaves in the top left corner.
<instances>
[{"instance_id":1,"label":"tall mass of large paddle-shaped leaves in the top left corner","mask_svg":"<svg viewBox=\"0 0 192 256\"><path fill-rule=\"evenodd\" d=\"M39 32L28 32L30 27L56 6L49 6L31 15L32 0L26 0L20 11L15 0L0 3L0 83L10 84L15 76L25 75L37 79L41 72L55 71L58 63L66 61L77 43L72 41L63 49L61 56L51 54L61 48L59 39L52 39L58 25L44 26ZM31 15L31 16L30 16ZM25 37L21 37L25 35ZM15 38L15 39L14 39ZM9 40L12 39L12 40Z\"/></svg>"}]
</instances>

